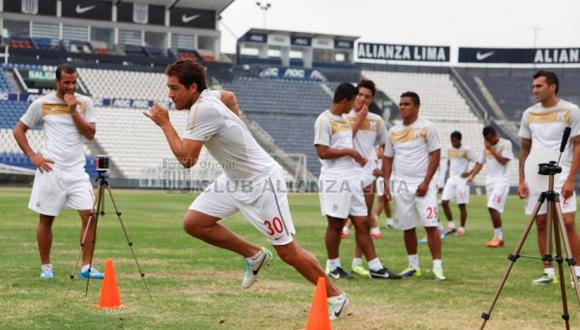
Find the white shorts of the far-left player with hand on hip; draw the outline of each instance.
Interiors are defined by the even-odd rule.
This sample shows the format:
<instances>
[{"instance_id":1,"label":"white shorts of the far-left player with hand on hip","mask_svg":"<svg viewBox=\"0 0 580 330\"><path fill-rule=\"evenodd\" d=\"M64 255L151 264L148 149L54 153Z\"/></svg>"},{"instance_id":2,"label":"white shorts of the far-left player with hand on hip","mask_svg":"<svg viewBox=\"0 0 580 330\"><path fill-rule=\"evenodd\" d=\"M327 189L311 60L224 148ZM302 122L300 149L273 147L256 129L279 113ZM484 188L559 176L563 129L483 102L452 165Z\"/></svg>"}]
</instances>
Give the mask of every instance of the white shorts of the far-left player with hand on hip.
<instances>
[{"instance_id":1,"label":"white shorts of the far-left player with hand on hip","mask_svg":"<svg viewBox=\"0 0 580 330\"><path fill-rule=\"evenodd\" d=\"M53 168L36 170L28 208L36 213L58 216L60 210L92 210L93 186L85 171L66 172Z\"/></svg>"}]
</instances>

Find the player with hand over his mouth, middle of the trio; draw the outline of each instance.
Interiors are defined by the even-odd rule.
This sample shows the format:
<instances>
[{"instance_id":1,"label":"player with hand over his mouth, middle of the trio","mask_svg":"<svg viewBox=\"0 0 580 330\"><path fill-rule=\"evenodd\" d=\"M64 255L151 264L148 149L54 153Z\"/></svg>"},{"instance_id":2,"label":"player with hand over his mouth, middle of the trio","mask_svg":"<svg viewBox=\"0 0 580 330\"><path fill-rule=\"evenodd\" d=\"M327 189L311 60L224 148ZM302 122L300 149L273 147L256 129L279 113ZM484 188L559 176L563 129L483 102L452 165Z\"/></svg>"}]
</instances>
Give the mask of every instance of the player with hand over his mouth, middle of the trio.
<instances>
[{"instance_id":1,"label":"player with hand over his mouth, middle of the trio","mask_svg":"<svg viewBox=\"0 0 580 330\"><path fill-rule=\"evenodd\" d=\"M353 109L347 115L347 119L351 122L354 149L367 159L363 167L365 175L362 177L362 184L371 228L370 234L372 238L381 239L382 233L377 223L377 216L373 212L376 177L382 174L381 169L378 168L376 147L384 147L387 128L381 116L368 111L376 92L374 82L363 79L357 85L357 90L358 94L355 97ZM348 228L348 225L344 226L343 233L345 228ZM351 269L355 274L368 276L368 271L362 267L362 255L360 247L355 245Z\"/></svg>"}]
</instances>

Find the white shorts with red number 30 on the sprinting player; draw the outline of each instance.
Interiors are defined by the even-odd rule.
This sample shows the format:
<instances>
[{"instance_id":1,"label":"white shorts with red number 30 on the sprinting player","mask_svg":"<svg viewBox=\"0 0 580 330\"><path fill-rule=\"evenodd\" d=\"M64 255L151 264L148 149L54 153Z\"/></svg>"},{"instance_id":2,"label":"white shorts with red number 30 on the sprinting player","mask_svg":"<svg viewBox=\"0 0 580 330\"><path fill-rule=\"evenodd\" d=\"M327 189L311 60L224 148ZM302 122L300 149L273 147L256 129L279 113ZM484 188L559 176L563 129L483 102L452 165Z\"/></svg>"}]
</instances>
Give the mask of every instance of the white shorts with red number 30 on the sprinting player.
<instances>
[{"instance_id":1,"label":"white shorts with red number 30 on the sprinting player","mask_svg":"<svg viewBox=\"0 0 580 330\"><path fill-rule=\"evenodd\" d=\"M279 167L253 182L233 181L222 173L189 209L220 219L240 211L272 245L285 245L292 242L296 234L287 193Z\"/></svg>"}]
</instances>

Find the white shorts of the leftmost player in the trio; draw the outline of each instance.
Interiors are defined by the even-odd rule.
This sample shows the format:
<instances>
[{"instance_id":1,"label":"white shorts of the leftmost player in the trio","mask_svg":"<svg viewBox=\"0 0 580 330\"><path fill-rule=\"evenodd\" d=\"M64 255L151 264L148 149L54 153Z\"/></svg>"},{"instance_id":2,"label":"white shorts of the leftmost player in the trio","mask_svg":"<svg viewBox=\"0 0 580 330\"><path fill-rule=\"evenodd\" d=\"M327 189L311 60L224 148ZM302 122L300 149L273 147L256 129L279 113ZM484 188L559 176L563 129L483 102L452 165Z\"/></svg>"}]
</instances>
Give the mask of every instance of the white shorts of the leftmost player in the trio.
<instances>
[{"instance_id":1,"label":"white shorts of the leftmost player in the trio","mask_svg":"<svg viewBox=\"0 0 580 330\"><path fill-rule=\"evenodd\" d=\"M337 219L366 217L363 184L359 179L321 178L318 187L322 215Z\"/></svg>"}]
</instances>

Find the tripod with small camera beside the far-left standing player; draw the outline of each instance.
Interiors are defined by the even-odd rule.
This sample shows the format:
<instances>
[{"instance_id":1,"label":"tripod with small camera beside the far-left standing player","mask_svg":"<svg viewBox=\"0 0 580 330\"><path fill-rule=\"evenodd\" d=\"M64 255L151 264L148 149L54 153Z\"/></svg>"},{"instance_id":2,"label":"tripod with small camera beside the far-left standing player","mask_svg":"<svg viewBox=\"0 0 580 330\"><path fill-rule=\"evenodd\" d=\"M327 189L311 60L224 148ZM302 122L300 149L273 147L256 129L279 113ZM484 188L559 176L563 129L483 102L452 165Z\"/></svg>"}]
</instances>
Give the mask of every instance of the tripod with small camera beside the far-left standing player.
<instances>
[{"instance_id":1,"label":"tripod with small camera beside the far-left standing player","mask_svg":"<svg viewBox=\"0 0 580 330\"><path fill-rule=\"evenodd\" d=\"M108 167L108 159L107 159L106 167ZM104 195L105 195L105 189L106 189L109 193L109 197L111 199L111 203L113 204L113 209L115 210L115 214L117 215L117 219L119 220L119 224L121 225L121 228L123 229L123 234L125 236L125 240L127 241L127 245L129 246L129 250L131 250L131 254L133 255L133 259L135 260L135 265L137 266L137 270L139 272L139 275L141 275L141 279L143 280L143 285L145 286L145 290L147 291L149 299L151 301L153 301L153 297L151 296L151 291L149 290L149 286L147 285L147 281L145 281L145 273L143 273L143 271L141 269L141 265L139 264L139 261L137 260L137 256L135 255L135 251L133 250L133 242L129 239L129 235L127 234L127 229L125 228L125 224L123 223L123 220L121 219L121 212L119 212L119 209L117 208L117 204L115 203L115 200L113 199L111 187L109 186L107 169L101 169L101 168L97 167L97 174L98 174L98 176L97 176L97 179L95 180L99 183L99 190L97 192L97 198L94 201L93 209L91 210L91 215L89 216L89 220L87 222L87 225L85 227L85 231L84 231L82 239L81 239L79 253L77 255L75 265L70 273L71 280L69 282L65 296L68 294L68 291L70 290L72 281L75 278L74 274L78 268L78 264L79 264L79 260L80 260L83 248L84 248L85 244L87 243L86 242L87 233L89 231L89 228L91 227L92 221L94 221L94 223L95 223L95 225L94 225L95 226L95 235L94 235L93 241L90 242L90 244L93 244L93 247L96 246L96 241L97 241L96 227L97 227L97 224L99 221L99 216L105 215L105 197L104 197ZM91 258L90 258L90 262L89 262L89 276L87 276L87 281L86 281L86 286L85 286L85 296L87 296L88 291L89 291L89 282L91 279L90 272L92 270L93 254L94 254L94 248L91 251Z\"/></svg>"}]
</instances>

